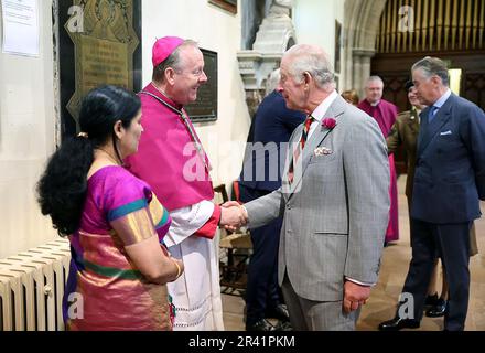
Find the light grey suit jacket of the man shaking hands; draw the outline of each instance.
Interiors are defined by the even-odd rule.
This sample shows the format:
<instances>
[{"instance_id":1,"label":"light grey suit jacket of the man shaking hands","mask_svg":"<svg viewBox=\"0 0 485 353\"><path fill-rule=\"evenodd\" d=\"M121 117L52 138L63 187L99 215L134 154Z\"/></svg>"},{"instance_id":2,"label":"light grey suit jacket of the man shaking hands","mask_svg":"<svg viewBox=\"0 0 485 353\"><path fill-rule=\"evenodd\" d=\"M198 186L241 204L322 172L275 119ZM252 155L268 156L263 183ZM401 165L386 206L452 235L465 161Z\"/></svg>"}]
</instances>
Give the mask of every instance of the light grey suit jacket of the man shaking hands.
<instances>
[{"instance_id":1,"label":"light grey suit jacket of the man shaking hands","mask_svg":"<svg viewBox=\"0 0 485 353\"><path fill-rule=\"evenodd\" d=\"M377 282L390 175L386 141L371 117L340 96L325 117L335 118L336 126L319 126L312 133L295 164L293 183L288 184L289 153L283 185L245 206L250 228L283 215L280 285L287 271L300 297L337 301L343 299L345 277ZM300 140L302 127L290 142ZM319 147L332 152L317 153Z\"/></svg>"}]
</instances>

